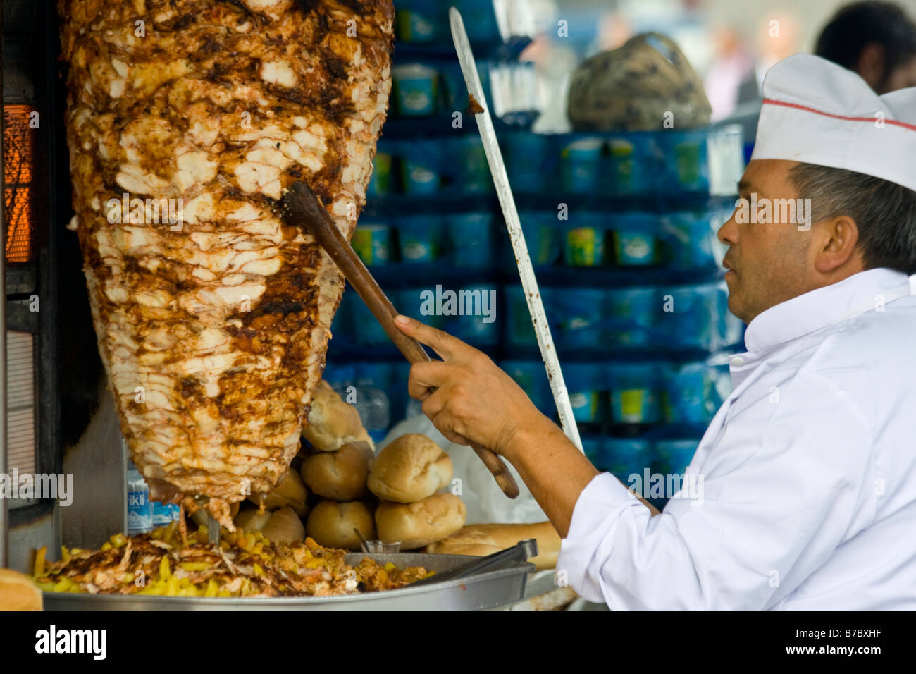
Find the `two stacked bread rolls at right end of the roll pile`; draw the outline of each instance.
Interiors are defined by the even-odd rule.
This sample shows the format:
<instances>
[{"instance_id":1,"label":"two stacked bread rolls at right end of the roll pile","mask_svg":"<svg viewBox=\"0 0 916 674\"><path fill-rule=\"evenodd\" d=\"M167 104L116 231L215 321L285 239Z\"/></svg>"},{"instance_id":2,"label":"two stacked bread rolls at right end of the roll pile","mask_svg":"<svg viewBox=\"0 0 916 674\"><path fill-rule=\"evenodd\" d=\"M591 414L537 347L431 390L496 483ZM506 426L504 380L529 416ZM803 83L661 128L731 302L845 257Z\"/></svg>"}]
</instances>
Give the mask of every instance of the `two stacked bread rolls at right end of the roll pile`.
<instances>
[{"instance_id":1,"label":"two stacked bread rolls at right end of the roll pile","mask_svg":"<svg viewBox=\"0 0 916 674\"><path fill-rule=\"evenodd\" d=\"M440 492L451 481L452 459L429 437L409 433L393 440L376 457L367 481L381 499L379 539L412 550L452 536L467 511L453 493Z\"/></svg>"}]
</instances>

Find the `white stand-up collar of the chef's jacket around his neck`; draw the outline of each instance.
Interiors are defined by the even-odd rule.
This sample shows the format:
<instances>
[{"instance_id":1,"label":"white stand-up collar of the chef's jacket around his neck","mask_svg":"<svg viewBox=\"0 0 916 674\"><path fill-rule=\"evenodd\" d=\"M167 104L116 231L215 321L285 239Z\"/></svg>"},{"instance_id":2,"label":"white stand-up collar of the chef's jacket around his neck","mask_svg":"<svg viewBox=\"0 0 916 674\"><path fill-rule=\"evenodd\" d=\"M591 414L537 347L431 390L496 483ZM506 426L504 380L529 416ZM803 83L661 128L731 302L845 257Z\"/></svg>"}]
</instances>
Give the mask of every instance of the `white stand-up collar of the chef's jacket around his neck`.
<instances>
[{"instance_id":1,"label":"white stand-up collar of the chef's jacket around his neck","mask_svg":"<svg viewBox=\"0 0 916 674\"><path fill-rule=\"evenodd\" d=\"M748 351L767 349L832 326L850 313L876 306L878 295L907 283L902 271L879 268L793 297L771 306L747 325L745 347Z\"/></svg>"}]
</instances>

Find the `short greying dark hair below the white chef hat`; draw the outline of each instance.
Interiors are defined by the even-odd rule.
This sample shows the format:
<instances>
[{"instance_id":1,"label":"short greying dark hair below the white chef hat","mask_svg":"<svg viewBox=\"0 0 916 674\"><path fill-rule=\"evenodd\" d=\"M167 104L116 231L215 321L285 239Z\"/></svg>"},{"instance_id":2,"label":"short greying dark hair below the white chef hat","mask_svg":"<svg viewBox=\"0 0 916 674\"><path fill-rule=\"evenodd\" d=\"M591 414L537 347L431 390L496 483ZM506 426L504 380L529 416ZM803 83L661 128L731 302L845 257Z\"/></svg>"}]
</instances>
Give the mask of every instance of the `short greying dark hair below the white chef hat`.
<instances>
[{"instance_id":1,"label":"short greying dark hair below the white chef hat","mask_svg":"<svg viewBox=\"0 0 916 674\"><path fill-rule=\"evenodd\" d=\"M812 222L847 215L856 221L866 269L916 273L916 192L856 171L801 163L789 171L811 199Z\"/></svg>"}]
</instances>

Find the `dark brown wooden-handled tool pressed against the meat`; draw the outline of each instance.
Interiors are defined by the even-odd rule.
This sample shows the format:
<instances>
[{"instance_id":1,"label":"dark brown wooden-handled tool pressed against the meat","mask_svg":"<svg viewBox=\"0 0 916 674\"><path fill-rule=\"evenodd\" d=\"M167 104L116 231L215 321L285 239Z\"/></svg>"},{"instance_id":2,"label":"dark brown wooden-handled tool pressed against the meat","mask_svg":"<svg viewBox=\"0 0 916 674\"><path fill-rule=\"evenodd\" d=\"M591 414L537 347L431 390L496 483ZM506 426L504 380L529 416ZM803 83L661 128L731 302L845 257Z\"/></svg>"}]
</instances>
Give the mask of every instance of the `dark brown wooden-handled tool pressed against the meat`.
<instances>
[{"instance_id":1,"label":"dark brown wooden-handled tool pressed against the meat","mask_svg":"<svg viewBox=\"0 0 916 674\"><path fill-rule=\"evenodd\" d=\"M409 363L431 360L429 354L413 337L408 337L395 326L398 315L393 304L365 268L344 235L334 225L331 215L318 202L318 197L304 182L293 182L283 198L283 218L289 225L302 227L318 241L328 256L344 272L344 277L363 299L365 305L385 328L385 333L395 343ZM485 447L471 444L477 456L496 480L496 484L510 499L518 496L518 484L512 473L497 454Z\"/></svg>"}]
</instances>

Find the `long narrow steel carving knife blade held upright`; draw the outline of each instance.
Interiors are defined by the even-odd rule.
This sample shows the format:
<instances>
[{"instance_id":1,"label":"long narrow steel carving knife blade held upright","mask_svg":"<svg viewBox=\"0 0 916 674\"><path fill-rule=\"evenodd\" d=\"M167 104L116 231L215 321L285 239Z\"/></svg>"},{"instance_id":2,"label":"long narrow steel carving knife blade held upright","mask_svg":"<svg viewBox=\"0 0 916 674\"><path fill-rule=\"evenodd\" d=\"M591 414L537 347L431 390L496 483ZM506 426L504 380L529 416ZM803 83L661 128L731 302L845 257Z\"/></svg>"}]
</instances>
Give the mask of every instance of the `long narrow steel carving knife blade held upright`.
<instances>
[{"instance_id":1,"label":"long narrow steel carving knife blade held upright","mask_svg":"<svg viewBox=\"0 0 916 674\"><path fill-rule=\"evenodd\" d=\"M534 332L538 337L540 357L544 360L547 378L551 382L553 400L557 405L557 413L560 414L560 425L563 433L581 450L582 439L579 437L579 428L573 418L573 406L570 404L569 392L566 391L566 385L563 381L560 360L557 358L557 349L553 347L551 327L548 325L547 316L544 314L544 303L540 299L538 282L534 277L534 268L531 266L531 259L528 255L528 245L525 243L525 236L521 231L521 223L518 221L518 210L516 209L515 199L512 196L512 190L509 187L506 164L503 163L503 155L499 151L499 143L496 142L493 119L486 108L484 89L481 86L480 75L477 74L477 66L474 62L474 52L471 50L471 43L467 39L467 33L464 31L461 13L454 7L449 9L449 24L452 27L452 39L455 50L458 52L458 61L461 62L464 83L467 85L468 94L471 94L471 105L473 107L475 102L478 106L474 115L477 120L477 128L480 130L480 138L484 143L486 162L490 165L490 174L493 176L493 183L496 185L496 195L499 197L499 205L503 209L503 217L506 220L509 238L512 241L512 249L518 262L518 276L521 278L521 286L528 300L531 323L534 325Z\"/></svg>"}]
</instances>

